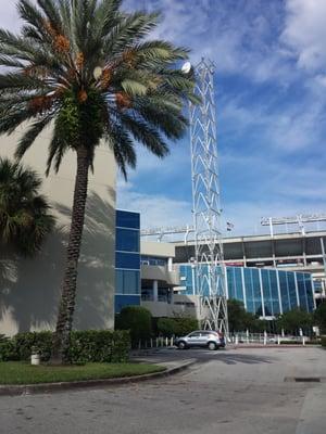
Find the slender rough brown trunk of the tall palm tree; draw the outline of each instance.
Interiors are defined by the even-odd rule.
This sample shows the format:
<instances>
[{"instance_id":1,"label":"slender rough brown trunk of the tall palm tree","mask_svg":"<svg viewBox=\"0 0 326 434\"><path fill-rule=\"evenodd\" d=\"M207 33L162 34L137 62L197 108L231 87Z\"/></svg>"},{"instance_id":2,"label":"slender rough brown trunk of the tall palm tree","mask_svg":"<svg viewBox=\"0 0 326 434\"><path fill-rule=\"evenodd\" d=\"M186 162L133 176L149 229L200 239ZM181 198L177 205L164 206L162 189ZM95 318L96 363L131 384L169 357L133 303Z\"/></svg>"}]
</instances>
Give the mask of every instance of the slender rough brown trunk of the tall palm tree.
<instances>
[{"instance_id":1,"label":"slender rough brown trunk of the tall palm tree","mask_svg":"<svg viewBox=\"0 0 326 434\"><path fill-rule=\"evenodd\" d=\"M70 335L76 303L77 268L82 246L85 207L88 187L89 158L85 146L77 149L77 174L75 179L72 224L66 254L66 266L62 282L61 301L53 339L51 360L67 360Z\"/></svg>"}]
</instances>

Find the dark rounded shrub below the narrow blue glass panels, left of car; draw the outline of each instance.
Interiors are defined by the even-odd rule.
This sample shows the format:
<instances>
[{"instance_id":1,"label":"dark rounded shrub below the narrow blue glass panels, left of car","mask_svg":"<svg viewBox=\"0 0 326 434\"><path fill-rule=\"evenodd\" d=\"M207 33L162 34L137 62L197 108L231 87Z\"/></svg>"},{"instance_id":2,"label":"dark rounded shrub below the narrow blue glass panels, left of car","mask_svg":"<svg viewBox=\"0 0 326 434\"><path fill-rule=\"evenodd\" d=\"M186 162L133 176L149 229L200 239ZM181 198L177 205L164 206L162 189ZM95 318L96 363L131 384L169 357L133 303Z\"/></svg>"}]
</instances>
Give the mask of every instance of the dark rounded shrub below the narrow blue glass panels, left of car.
<instances>
[{"instance_id":1,"label":"dark rounded shrub below the narrow blue glass panels, left of car","mask_svg":"<svg viewBox=\"0 0 326 434\"><path fill-rule=\"evenodd\" d=\"M129 330L131 346L135 348L138 346L139 341L146 341L151 337L151 312L141 306L125 306L117 317L116 329Z\"/></svg>"}]
</instances>

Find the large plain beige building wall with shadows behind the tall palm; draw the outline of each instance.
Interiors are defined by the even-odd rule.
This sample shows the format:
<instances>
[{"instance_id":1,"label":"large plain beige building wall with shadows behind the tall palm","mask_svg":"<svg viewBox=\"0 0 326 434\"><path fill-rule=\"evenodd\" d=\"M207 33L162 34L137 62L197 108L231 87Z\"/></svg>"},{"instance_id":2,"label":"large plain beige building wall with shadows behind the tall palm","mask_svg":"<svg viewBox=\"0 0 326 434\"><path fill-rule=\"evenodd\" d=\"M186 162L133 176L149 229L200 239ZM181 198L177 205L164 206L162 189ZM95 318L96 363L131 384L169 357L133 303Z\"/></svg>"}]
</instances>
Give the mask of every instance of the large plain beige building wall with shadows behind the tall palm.
<instances>
[{"instance_id":1,"label":"large plain beige building wall with shadows behind the tall palm","mask_svg":"<svg viewBox=\"0 0 326 434\"><path fill-rule=\"evenodd\" d=\"M22 129L0 137L0 156L12 157ZM24 163L45 174L51 130L37 139ZM55 232L42 252L22 258L0 246L0 333L53 329L70 230L76 155L64 156L59 174L43 181L43 193L58 217ZM112 153L99 146L89 192L78 268L75 329L114 326L115 164Z\"/></svg>"}]
</instances>

